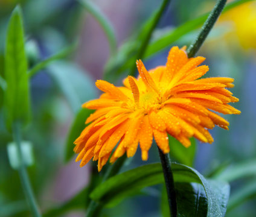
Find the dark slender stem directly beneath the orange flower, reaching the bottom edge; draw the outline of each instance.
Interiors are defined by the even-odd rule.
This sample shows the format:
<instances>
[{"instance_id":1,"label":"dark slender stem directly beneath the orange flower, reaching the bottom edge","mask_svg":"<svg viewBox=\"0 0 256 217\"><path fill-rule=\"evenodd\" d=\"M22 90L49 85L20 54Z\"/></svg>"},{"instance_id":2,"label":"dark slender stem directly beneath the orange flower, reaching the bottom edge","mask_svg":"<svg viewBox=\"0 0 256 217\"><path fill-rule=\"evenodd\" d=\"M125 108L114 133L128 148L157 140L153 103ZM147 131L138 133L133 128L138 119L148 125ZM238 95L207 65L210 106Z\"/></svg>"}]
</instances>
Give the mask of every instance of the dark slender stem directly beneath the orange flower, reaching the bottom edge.
<instances>
[{"instance_id":1,"label":"dark slender stem directly beneath the orange flower, reaching the bottom edge","mask_svg":"<svg viewBox=\"0 0 256 217\"><path fill-rule=\"evenodd\" d=\"M176 192L174 188L173 172L171 171L171 160L169 154L162 153L158 148L159 157L162 163L162 171L164 172L165 187L167 190L168 203L171 217L177 216Z\"/></svg>"}]
</instances>

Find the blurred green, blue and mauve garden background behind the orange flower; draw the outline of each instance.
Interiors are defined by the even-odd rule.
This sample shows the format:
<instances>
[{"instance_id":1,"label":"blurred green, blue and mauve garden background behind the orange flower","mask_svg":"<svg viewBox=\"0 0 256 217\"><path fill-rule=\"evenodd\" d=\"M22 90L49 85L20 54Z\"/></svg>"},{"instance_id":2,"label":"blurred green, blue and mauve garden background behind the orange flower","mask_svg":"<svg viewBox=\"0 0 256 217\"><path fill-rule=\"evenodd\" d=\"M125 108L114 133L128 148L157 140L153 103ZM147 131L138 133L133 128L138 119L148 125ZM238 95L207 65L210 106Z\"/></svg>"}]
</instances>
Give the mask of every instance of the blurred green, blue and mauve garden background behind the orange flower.
<instances>
[{"instance_id":1,"label":"blurred green, blue and mauve garden background behind the orange flower","mask_svg":"<svg viewBox=\"0 0 256 217\"><path fill-rule=\"evenodd\" d=\"M154 0L94 2L113 25L119 47L138 34L144 22L161 4L161 1ZM173 0L168 10L165 10L152 40L205 14L215 3L216 1L211 0ZM46 212L61 206L88 184L92 167L88 164L80 168L79 163L75 163L75 156L65 160L66 138L80 105L100 94L94 83L106 71L110 49L104 31L78 1L0 0L1 75L4 73L7 24L16 4L21 4L24 14L26 52L30 68L73 44L75 47L68 57L52 62L34 75L30 83L33 119L22 136L33 145L33 163L28 167L28 172L40 208L42 212ZM178 37L165 49L146 58L146 68L165 64L171 46L190 45L198 31L197 28ZM256 4L255 1L250 1L220 16L199 51L198 55L206 57L205 64L210 66L207 77L235 78L232 92L240 99L235 107L242 111L238 116L225 116L230 122L229 131L217 127L211 131L213 144L197 142L194 168L202 174L210 174L221 165L255 159L255 39ZM78 42L78 46L75 46L75 42ZM144 61L143 58L142 60ZM121 80L126 75L127 71L122 72L115 79L115 84L121 85ZM2 104L2 92L0 103ZM8 161L7 144L12 141L12 137L5 130L2 112L0 119L0 216L29 216L18 172L11 168ZM149 162L159 162L156 148L150 149L149 154ZM141 160L140 151L128 162L124 169L145 164ZM233 189L245 183L246 180L232 183L231 194ZM104 215L161 216L161 187L152 187L147 189L147 193L124 200L115 209L107 209ZM255 216L255 206L255 199L245 201L230 210L226 216ZM85 211L74 209L60 216L85 216Z\"/></svg>"}]
</instances>

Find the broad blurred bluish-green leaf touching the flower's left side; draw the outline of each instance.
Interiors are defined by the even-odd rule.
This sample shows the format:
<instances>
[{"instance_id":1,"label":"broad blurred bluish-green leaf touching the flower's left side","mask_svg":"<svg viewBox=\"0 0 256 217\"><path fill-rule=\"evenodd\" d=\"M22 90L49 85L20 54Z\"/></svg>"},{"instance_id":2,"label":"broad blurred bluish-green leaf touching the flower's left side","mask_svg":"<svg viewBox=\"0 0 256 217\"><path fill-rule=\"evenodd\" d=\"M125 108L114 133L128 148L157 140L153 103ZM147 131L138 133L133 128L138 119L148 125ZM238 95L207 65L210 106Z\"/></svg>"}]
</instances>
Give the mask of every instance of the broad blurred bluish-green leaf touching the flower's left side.
<instances>
[{"instance_id":1,"label":"broad blurred bluish-green leaf touching the flower's left side","mask_svg":"<svg viewBox=\"0 0 256 217\"><path fill-rule=\"evenodd\" d=\"M56 61L48 66L47 72L56 82L74 113L77 113L82 103L95 98L96 87L92 78L77 64Z\"/></svg>"}]
</instances>

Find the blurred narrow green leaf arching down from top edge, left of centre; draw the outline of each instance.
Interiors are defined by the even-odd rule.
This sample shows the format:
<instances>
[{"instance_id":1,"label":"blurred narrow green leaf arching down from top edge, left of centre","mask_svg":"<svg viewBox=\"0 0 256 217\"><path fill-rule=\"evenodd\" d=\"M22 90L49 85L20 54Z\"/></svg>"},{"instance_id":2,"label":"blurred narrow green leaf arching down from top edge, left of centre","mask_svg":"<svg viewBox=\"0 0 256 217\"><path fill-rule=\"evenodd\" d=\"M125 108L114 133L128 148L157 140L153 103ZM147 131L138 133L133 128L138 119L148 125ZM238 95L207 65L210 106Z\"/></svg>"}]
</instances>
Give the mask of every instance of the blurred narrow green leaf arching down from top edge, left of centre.
<instances>
[{"instance_id":1,"label":"blurred narrow green leaf arching down from top edge, left of centre","mask_svg":"<svg viewBox=\"0 0 256 217\"><path fill-rule=\"evenodd\" d=\"M83 5L83 7L97 20L98 24L100 24L104 33L107 36L107 40L109 40L110 52L111 54L115 54L117 51L117 39L115 37L114 28L112 27L109 19L100 11L100 8L94 4L93 1L90 0L79 0L79 2Z\"/></svg>"}]
</instances>

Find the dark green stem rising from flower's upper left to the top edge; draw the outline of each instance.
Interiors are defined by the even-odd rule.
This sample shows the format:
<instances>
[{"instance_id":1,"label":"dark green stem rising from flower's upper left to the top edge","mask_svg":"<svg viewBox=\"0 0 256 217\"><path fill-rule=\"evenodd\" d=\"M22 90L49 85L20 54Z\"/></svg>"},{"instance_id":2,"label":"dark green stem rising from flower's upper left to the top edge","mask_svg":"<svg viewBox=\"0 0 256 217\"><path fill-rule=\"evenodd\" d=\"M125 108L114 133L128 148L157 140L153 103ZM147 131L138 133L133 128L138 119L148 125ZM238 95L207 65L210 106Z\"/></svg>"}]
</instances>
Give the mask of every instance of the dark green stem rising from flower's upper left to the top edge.
<instances>
[{"instance_id":1,"label":"dark green stem rising from flower's upper left to the top edge","mask_svg":"<svg viewBox=\"0 0 256 217\"><path fill-rule=\"evenodd\" d=\"M149 45L149 41L152 36L152 33L155 30L156 25L158 25L158 22L161 19L161 16L162 16L165 8L168 6L168 4L170 4L170 2L171 2L171 0L164 0L161 4L161 7L159 8L159 10L156 12L155 16L153 17L153 20L150 20L152 22L152 24L150 25L147 32L143 33L144 37L142 39L141 46L139 46L138 53L136 55L136 60L143 58L143 56L146 52L147 46ZM130 70L129 75L135 76L135 73L136 73L136 65L134 64L134 66Z\"/></svg>"}]
</instances>

